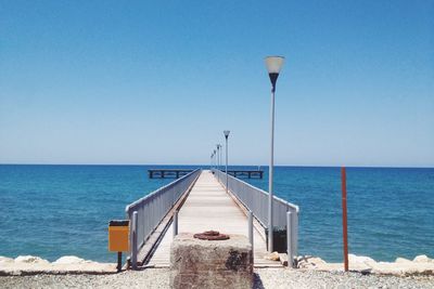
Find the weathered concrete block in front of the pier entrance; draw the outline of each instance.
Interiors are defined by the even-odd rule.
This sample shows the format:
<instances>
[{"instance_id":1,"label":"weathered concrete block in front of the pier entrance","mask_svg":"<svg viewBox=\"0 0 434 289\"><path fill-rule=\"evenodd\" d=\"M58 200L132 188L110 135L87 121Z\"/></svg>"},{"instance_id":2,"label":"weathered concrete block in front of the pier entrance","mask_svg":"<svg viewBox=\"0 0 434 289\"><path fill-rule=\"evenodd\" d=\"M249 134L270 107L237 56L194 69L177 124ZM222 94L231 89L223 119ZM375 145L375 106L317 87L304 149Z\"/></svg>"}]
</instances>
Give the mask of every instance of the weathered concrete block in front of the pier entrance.
<instances>
[{"instance_id":1,"label":"weathered concrete block in front of the pier entrance","mask_svg":"<svg viewBox=\"0 0 434 289\"><path fill-rule=\"evenodd\" d=\"M253 252L243 235L200 240L178 235L170 247L171 288L252 288Z\"/></svg>"}]
</instances>

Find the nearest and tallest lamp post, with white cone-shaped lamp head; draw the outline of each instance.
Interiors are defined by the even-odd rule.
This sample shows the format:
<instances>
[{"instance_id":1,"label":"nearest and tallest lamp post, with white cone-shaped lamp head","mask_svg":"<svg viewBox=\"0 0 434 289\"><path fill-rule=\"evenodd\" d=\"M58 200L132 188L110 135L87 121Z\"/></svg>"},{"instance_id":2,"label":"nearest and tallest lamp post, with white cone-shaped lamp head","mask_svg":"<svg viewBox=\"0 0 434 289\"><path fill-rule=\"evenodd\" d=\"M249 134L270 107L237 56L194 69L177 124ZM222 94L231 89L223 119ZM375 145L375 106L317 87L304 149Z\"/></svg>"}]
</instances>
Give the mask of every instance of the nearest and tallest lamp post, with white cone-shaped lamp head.
<instances>
[{"instance_id":1,"label":"nearest and tallest lamp post, with white cone-shaped lamp head","mask_svg":"<svg viewBox=\"0 0 434 289\"><path fill-rule=\"evenodd\" d=\"M272 252L272 239L273 239L273 225L272 225L272 173L275 166L275 92L276 92L276 82L279 77L280 69L283 66L284 57L283 56L267 56L265 58L265 64L268 70L268 76L271 81L271 146L270 146L270 165L269 165L269 173L268 173L268 251Z\"/></svg>"}]
</instances>

